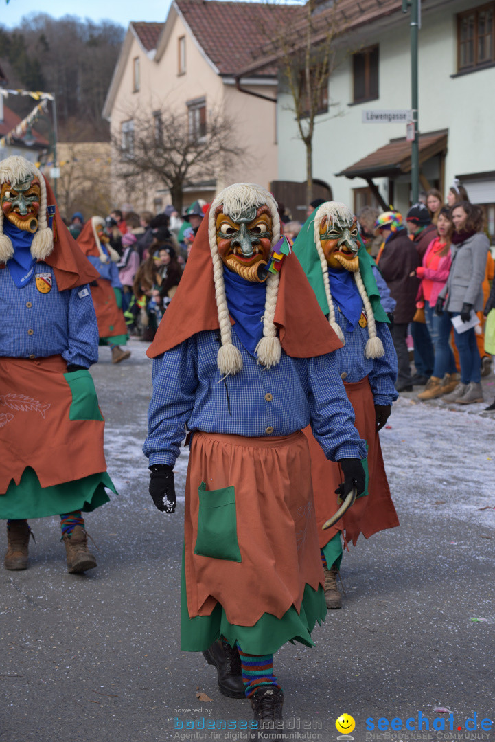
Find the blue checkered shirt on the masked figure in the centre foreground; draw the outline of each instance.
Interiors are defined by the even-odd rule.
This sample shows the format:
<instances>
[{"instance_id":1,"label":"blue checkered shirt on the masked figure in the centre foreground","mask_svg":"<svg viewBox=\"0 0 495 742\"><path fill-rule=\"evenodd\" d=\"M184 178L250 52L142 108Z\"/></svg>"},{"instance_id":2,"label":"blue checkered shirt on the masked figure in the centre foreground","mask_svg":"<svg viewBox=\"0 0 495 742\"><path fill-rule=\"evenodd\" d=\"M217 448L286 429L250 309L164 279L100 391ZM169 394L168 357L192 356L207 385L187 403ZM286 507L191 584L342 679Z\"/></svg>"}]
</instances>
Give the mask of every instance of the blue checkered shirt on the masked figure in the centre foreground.
<instances>
[{"instance_id":1,"label":"blue checkered shirt on the masked figure in the centre foreground","mask_svg":"<svg viewBox=\"0 0 495 742\"><path fill-rule=\"evenodd\" d=\"M153 361L153 397L144 454L150 464L174 464L189 430L238 436L289 436L309 423L333 461L365 459L365 441L337 373L334 353L291 358L282 351L265 370L239 342L243 369L222 381L216 366L219 332L198 332Z\"/></svg>"}]
</instances>

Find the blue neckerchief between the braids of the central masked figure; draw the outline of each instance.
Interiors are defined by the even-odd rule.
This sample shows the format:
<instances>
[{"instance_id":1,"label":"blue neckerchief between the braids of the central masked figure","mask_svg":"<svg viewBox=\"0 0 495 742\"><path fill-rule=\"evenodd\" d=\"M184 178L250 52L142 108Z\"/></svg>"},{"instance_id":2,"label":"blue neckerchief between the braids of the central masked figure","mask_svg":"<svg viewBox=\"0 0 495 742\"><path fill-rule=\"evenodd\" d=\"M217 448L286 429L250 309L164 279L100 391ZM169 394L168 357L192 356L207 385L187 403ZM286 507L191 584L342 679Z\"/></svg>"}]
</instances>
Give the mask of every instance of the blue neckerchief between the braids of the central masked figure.
<instances>
[{"instance_id":1,"label":"blue neckerchief between the braids of the central masked figure","mask_svg":"<svg viewBox=\"0 0 495 742\"><path fill-rule=\"evenodd\" d=\"M254 283L224 268L227 307L236 324L233 330L250 355L256 358L256 345L263 337L266 284Z\"/></svg>"}]
</instances>

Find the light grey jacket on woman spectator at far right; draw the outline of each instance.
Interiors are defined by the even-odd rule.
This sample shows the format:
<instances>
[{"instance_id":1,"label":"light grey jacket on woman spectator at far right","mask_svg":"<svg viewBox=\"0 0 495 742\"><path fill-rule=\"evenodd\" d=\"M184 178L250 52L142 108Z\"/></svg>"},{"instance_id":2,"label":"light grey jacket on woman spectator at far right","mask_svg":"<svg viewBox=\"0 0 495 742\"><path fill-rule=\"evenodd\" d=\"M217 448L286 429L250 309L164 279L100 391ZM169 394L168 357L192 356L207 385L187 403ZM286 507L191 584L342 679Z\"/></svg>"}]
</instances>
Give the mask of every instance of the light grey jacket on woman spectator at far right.
<instances>
[{"instance_id":1,"label":"light grey jacket on woman spectator at far right","mask_svg":"<svg viewBox=\"0 0 495 742\"><path fill-rule=\"evenodd\" d=\"M485 303L482 283L489 246L488 237L482 232L476 232L460 245L451 246L451 272L439 294L447 297L444 309L448 312L461 312L462 304L472 304L475 312L482 312Z\"/></svg>"}]
</instances>

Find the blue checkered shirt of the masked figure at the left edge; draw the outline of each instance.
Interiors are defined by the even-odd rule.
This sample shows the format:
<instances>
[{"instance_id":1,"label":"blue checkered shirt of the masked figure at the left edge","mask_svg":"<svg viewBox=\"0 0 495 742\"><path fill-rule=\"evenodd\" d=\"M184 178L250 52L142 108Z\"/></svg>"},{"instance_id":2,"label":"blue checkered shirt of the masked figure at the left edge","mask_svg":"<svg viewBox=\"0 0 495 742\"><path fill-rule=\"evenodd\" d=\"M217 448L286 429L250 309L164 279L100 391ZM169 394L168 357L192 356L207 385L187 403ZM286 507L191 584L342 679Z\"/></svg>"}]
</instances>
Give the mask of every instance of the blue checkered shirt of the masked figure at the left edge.
<instances>
[{"instance_id":1,"label":"blue checkered shirt of the masked figure at the left edge","mask_svg":"<svg viewBox=\"0 0 495 742\"><path fill-rule=\"evenodd\" d=\"M36 275L50 275L43 294ZM59 291L53 268L40 260L27 286L18 289L7 268L0 270L0 355L46 358L89 368L98 361L98 325L89 286Z\"/></svg>"}]
</instances>

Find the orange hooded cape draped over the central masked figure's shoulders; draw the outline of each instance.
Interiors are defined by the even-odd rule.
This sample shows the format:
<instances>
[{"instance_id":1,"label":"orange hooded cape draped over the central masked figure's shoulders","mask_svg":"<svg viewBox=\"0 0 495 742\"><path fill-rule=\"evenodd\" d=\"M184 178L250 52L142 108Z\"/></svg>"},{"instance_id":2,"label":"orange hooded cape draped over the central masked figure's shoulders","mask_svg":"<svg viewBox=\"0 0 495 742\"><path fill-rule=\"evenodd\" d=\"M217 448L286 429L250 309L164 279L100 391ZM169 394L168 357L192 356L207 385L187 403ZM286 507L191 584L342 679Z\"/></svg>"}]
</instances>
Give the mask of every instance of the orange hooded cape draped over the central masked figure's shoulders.
<instances>
[{"instance_id":1,"label":"orange hooded cape draped over the central masked figure's shoulders","mask_svg":"<svg viewBox=\"0 0 495 742\"><path fill-rule=\"evenodd\" d=\"M196 234L176 294L159 324L153 343L147 349L149 358L156 358L197 332L219 329L208 240L209 213L208 209ZM285 257L280 271L274 322L279 329L282 349L294 358L313 358L342 347L322 314L305 272L293 253Z\"/></svg>"}]
</instances>

